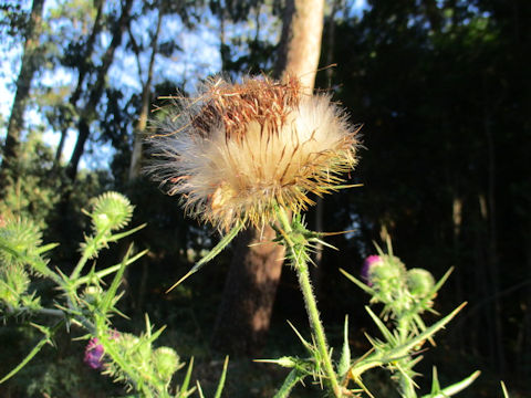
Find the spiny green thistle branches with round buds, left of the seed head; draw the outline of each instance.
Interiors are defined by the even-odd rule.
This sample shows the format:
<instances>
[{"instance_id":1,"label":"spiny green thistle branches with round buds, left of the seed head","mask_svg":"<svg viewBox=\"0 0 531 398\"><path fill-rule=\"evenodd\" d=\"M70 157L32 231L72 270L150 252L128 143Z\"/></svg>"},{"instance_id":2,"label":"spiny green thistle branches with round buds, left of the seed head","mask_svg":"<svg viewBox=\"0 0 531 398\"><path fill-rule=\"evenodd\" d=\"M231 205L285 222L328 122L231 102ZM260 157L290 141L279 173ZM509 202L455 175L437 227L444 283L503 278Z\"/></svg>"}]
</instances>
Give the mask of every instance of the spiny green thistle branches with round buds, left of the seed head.
<instances>
[{"instance_id":1,"label":"spiny green thistle branches with round buds, left of the seed head","mask_svg":"<svg viewBox=\"0 0 531 398\"><path fill-rule=\"evenodd\" d=\"M75 338L90 339L85 364L123 383L135 396L188 397L196 389L190 387L191 362L183 385L174 387L173 376L185 364L174 348L154 346L164 327L154 331L146 315L145 332L135 336L116 331L111 322L114 315L122 315L116 304L122 296L118 289L124 271L146 251L134 253L131 245L118 264L100 271L96 271L95 260L110 243L144 227L121 231L132 218L133 206L124 196L107 192L95 198L91 210L84 210L84 213L92 221L92 233L87 233L81 243L81 258L70 274L50 265L46 254L56 244L42 244L42 233L31 220L2 219L0 316L31 321L31 326L43 336L28 356L1 378L0 384L14 376L45 344L53 344L54 334L60 327L66 326ZM90 261L92 264L88 264ZM41 292L32 291L30 284L34 277L49 279L56 285L61 294L55 298L54 307L41 304ZM110 283L105 283L110 277ZM221 394L226 370L227 365L217 397Z\"/></svg>"}]
</instances>

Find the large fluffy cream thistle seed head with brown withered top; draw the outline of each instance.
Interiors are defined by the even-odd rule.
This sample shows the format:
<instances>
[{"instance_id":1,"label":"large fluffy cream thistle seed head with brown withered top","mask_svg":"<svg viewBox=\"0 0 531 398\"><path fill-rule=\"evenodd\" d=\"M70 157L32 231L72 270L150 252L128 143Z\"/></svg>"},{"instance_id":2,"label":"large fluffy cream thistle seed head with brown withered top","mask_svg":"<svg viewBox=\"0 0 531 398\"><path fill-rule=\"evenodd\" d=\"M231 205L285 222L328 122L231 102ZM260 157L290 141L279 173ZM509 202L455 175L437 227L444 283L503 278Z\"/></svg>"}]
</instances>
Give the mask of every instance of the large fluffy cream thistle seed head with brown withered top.
<instances>
[{"instance_id":1,"label":"large fluffy cream thistle seed head with brown withered top","mask_svg":"<svg viewBox=\"0 0 531 398\"><path fill-rule=\"evenodd\" d=\"M340 189L356 165L357 127L327 95L299 80L209 81L196 97L173 98L148 138L147 172L186 211L216 228L261 228L278 203L294 212Z\"/></svg>"}]
</instances>

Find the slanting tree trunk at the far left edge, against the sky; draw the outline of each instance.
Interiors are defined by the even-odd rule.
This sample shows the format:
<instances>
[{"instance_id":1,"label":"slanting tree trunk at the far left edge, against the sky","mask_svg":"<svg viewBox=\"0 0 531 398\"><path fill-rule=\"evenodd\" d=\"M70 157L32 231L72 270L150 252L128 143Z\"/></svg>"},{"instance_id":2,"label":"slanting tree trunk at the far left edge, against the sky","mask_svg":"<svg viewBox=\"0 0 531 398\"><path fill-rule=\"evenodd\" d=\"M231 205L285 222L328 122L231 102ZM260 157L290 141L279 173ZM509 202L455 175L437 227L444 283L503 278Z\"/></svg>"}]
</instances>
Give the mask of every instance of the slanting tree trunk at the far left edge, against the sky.
<instances>
[{"instance_id":1,"label":"slanting tree trunk at the far left edge, against the sky","mask_svg":"<svg viewBox=\"0 0 531 398\"><path fill-rule=\"evenodd\" d=\"M3 190L6 174L12 160L17 159L17 153L20 146L20 133L24 125L24 109L30 97L30 86L33 74L38 69L38 49L40 43L40 33L42 28L42 9L44 0L33 0L30 21L25 32L25 42L22 55L19 77L17 78L17 92L14 94L13 106L8 122L8 134L3 147L0 190ZM0 193L1 195L1 193Z\"/></svg>"}]
</instances>

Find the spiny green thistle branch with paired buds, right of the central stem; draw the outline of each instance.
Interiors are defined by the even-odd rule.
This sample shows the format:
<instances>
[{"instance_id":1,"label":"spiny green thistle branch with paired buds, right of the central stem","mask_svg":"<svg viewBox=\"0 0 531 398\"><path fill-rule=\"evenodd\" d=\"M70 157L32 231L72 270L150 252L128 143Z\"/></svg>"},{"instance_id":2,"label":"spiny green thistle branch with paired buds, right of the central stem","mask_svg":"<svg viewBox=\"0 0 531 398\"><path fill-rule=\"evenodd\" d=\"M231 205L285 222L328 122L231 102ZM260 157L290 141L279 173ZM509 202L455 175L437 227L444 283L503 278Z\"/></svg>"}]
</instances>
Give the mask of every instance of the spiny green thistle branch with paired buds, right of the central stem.
<instances>
[{"instance_id":1,"label":"spiny green thistle branch with paired buds, right of the central stem","mask_svg":"<svg viewBox=\"0 0 531 398\"><path fill-rule=\"evenodd\" d=\"M371 295L371 304L383 306L379 316L371 307L365 307L382 333L383 339L367 336L373 348L367 355L352 362L344 383L352 380L371 395L363 385L362 374L374 367L384 367L391 371L402 397L416 398L418 386L414 379L418 374L414 366L423 359L419 355L423 346L426 342L434 344L433 335L457 315L465 304L434 325L426 326L420 315L425 312L438 315L433 308L434 298L450 275L451 269L435 282L427 270L407 270L405 264L393 255L391 241L387 242L387 253L376 248L378 254L368 256L363 264L362 281L341 270L346 277ZM450 397L468 387L478 376L479 371L475 371L466 379L441 388L437 379L437 369L434 367L431 392L425 398Z\"/></svg>"}]
</instances>

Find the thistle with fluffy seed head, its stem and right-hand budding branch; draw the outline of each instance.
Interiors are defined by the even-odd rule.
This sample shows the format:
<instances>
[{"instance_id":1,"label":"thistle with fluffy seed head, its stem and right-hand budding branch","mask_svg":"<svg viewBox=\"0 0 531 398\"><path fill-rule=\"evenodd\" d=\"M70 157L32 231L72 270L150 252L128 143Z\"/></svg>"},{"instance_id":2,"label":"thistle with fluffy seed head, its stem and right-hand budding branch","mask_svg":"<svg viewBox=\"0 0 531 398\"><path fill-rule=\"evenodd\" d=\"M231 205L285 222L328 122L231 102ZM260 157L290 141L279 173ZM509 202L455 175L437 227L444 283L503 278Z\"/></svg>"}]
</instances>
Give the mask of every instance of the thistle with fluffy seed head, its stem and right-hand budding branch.
<instances>
[{"instance_id":1,"label":"thistle with fluffy seed head, its stem and right-hand budding branch","mask_svg":"<svg viewBox=\"0 0 531 398\"><path fill-rule=\"evenodd\" d=\"M302 212L314 205L310 193L323 196L343 188L344 175L357 163L358 127L327 95L305 95L300 82L290 77L244 78L235 84L223 78L208 81L197 96L166 97L162 117L148 137L153 164L146 171L168 195L180 195L187 214L210 223L222 234L219 244L176 284L214 259L243 228L277 231L275 241L287 249L295 271L311 326L311 339L295 329L309 358L285 356L270 360L290 371L275 397L288 397L306 377L319 383L330 396L352 397L371 392L362 375L386 367L398 383L403 397L416 397L414 356L425 341L444 327L457 308L427 327L420 314L431 311L437 284L425 270L406 271L392 254L381 253L377 264L367 265L366 281L356 284L384 304L382 318L367 312L384 339L369 338L373 349L352 358L347 342L335 363L320 320L310 281L310 254L325 233L306 228ZM175 285L174 285L175 286ZM394 323L389 329L385 322ZM440 389L434 376L429 397L446 397L477 377Z\"/></svg>"}]
</instances>

